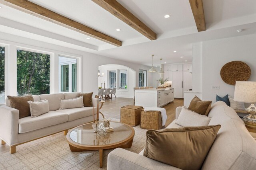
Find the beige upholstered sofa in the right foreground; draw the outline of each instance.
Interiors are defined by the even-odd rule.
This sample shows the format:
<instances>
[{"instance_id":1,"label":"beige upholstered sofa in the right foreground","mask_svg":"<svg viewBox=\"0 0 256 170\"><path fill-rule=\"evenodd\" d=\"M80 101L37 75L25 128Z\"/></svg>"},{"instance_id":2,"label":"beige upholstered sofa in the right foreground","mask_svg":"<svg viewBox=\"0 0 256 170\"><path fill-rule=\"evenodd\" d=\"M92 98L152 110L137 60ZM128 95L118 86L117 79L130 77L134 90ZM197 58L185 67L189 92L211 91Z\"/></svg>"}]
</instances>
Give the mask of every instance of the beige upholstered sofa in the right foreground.
<instances>
[{"instance_id":1,"label":"beige upholstered sofa in the right foreground","mask_svg":"<svg viewBox=\"0 0 256 170\"><path fill-rule=\"evenodd\" d=\"M177 107L176 119L180 111L181 107ZM211 117L209 125L220 124L221 128L204 160L202 170L255 170L256 141L234 109L219 101L212 105L208 117ZM167 128L180 127L175 124L176 119ZM126 170L128 167L133 170L178 170L142 155L143 150L136 154L121 148L115 149L108 154L108 170ZM184 155L184 158L188 156Z\"/></svg>"}]
</instances>

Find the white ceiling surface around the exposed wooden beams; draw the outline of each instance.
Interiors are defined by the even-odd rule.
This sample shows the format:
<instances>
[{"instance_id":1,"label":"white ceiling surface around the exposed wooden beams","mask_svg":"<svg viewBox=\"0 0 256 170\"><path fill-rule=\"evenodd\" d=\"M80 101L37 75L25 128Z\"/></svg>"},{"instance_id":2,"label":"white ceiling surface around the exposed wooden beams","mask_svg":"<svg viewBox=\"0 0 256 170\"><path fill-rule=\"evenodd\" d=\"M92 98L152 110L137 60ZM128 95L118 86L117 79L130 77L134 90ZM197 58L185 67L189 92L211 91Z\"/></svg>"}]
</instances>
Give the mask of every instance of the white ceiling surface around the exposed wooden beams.
<instances>
[{"instance_id":1,"label":"white ceiling surface around the exposed wooden beams","mask_svg":"<svg viewBox=\"0 0 256 170\"><path fill-rule=\"evenodd\" d=\"M255 0L203 0L206 31L199 33L188 0L117 0L157 34L154 41L91 0L30 1L110 35L122 41L122 47L86 39L87 35L2 4L1 32L146 65L152 54L158 65L160 58L167 64L191 62L192 43L256 33ZM164 18L166 14L171 17ZM237 29L245 31L238 34Z\"/></svg>"}]
</instances>

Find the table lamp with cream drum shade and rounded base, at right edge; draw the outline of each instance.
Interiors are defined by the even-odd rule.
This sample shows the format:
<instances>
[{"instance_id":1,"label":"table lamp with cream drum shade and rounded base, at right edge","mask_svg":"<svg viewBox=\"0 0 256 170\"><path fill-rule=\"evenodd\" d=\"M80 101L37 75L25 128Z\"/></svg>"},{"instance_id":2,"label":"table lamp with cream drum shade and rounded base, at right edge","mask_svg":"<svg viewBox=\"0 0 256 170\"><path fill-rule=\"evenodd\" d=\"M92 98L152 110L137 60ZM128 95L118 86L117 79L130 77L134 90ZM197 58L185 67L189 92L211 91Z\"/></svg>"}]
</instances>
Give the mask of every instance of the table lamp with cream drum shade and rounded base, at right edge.
<instances>
[{"instance_id":1,"label":"table lamp with cream drum shade and rounded base, at right edge","mask_svg":"<svg viewBox=\"0 0 256 170\"><path fill-rule=\"evenodd\" d=\"M245 109L249 115L243 117L246 127L256 129L256 82L254 81L236 81L234 101L250 103Z\"/></svg>"}]
</instances>

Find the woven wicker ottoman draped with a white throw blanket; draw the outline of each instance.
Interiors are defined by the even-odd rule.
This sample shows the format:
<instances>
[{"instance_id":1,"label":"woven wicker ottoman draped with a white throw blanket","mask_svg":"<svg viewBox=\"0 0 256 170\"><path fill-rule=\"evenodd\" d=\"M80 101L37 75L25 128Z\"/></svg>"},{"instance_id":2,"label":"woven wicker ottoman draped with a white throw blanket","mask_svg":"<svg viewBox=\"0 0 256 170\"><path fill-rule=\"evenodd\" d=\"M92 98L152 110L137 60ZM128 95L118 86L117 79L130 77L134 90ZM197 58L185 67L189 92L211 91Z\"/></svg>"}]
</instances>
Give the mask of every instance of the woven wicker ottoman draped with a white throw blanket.
<instances>
[{"instance_id":1,"label":"woven wicker ottoman draped with a white throw blanket","mask_svg":"<svg viewBox=\"0 0 256 170\"><path fill-rule=\"evenodd\" d=\"M142 129L162 129L162 117L160 111L141 111L140 128Z\"/></svg>"}]
</instances>

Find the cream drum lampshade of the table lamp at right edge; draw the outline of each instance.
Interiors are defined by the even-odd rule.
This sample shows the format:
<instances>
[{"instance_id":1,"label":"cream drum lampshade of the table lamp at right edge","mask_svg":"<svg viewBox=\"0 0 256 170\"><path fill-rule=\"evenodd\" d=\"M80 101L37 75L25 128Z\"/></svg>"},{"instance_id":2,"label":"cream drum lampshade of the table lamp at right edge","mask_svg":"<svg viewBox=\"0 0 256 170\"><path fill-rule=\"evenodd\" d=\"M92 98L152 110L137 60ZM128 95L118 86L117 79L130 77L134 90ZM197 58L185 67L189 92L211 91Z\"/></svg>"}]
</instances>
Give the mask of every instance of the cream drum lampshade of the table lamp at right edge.
<instances>
[{"instance_id":1,"label":"cream drum lampshade of the table lamp at right edge","mask_svg":"<svg viewBox=\"0 0 256 170\"><path fill-rule=\"evenodd\" d=\"M234 101L256 103L256 82L237 81L235 86Z\"/></svg>"}]
</instances>

